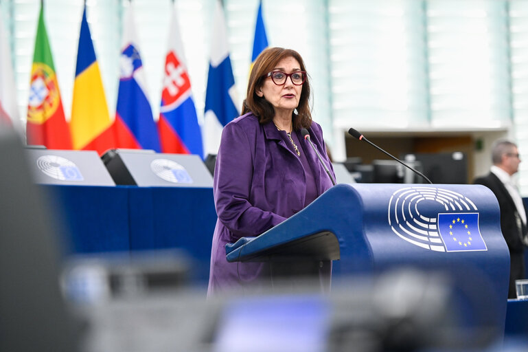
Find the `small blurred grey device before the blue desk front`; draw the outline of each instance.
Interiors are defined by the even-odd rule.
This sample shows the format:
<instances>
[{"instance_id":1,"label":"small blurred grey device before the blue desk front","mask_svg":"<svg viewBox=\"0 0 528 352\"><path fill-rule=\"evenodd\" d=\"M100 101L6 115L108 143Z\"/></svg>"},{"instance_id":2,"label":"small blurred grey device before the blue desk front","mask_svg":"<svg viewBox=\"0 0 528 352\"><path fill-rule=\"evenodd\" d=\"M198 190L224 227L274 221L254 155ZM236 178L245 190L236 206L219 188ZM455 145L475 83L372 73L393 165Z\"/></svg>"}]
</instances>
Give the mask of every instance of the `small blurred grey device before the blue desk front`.
<instances>
[{"instance_id":1,"label":"small blurred grey device before the blue desk front","mask_svg":"<svg viewBox=\"0 0 528 352\"><path fill-rule=\"evenodd\" d=\"M189 285L191 265L176 249L71 256L62 271L62 292L69 302L83 305L174 292Z\"/></svg>"}]
</instances>

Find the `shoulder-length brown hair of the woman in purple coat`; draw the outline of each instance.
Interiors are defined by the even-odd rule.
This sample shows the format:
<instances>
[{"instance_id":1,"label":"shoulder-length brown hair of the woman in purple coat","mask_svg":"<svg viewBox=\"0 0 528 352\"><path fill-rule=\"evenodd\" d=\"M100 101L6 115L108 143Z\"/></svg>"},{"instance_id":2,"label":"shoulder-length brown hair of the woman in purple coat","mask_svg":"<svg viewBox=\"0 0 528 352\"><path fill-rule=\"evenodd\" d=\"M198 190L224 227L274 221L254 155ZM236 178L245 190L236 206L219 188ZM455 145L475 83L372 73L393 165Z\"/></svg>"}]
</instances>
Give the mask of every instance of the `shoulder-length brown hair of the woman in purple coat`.
<instances>
[{"instance_id":1,"label":"shoulder-length brown hair of the woman in purple coat","mask_svg":"<svg viewBox=\"0 0 528 352\"><path fill-rule=\"evenodd\" d=\"M291 49L284 49L283 47L271 47L260 55L255 60L251 74L249 75L249 83L247 85L246 99L242 102L242 115L244 113L254 113L261 124L270 122L275 115L273 105L264 97L257 96L257 89L264 85L264 77L268 72L273 71L277 63L283 58L292 57L301 65L301 71L306 71L303 58L298 52ZM294 129L308 129L312 125L312 113L310 111L310 81L306 77L306 82L303 83L301 90L301 97L299 98L299 105L297 106L297 114L292 113L292 122Z\"/></svg>"}]
</instances>

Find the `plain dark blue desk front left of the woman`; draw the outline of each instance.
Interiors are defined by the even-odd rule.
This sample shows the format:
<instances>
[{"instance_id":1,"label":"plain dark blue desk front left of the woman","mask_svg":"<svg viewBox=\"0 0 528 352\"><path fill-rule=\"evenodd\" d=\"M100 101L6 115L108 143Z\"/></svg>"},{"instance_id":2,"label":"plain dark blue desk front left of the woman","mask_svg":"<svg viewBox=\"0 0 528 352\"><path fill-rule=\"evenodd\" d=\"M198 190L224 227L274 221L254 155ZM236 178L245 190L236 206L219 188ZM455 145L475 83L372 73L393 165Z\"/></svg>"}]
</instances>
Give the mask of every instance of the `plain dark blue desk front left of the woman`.
<instances>
[{"instance_id":1,"label":"plain dark blue desk front left of the woman","mask_svg":"<svg viewBox=\"0 0 528 352\"><path fill-rule=\"evenodd\" d=\"M216 224L212 188L41 186L63 209L73 253L179 248L207 281Z\"/></svg>"}]
</instances>

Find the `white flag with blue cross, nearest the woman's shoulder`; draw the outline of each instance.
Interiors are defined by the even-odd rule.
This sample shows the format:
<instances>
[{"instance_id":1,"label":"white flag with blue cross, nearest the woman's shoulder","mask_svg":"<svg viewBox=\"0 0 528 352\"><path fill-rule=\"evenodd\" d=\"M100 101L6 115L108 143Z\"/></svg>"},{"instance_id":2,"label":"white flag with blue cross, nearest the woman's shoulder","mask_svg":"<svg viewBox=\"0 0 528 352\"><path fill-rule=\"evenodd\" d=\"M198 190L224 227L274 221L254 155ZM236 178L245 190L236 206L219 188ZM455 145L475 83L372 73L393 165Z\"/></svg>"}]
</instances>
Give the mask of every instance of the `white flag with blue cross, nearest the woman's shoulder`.
<instances>
[{"instance_id":1,"label":"white flag with blue cross, nearest the woman's shoulder","mask_svg":"<svg viewBox=\"0 0 528 352\"><path fill-rule=\"evenodd\" d=\"M224 11L220 1L215 2L211 61L205 94L204 140L207 154L218 153L223 126L239 115L235 105L235 78L229 59Z\"/></svg>"}]
</instances>

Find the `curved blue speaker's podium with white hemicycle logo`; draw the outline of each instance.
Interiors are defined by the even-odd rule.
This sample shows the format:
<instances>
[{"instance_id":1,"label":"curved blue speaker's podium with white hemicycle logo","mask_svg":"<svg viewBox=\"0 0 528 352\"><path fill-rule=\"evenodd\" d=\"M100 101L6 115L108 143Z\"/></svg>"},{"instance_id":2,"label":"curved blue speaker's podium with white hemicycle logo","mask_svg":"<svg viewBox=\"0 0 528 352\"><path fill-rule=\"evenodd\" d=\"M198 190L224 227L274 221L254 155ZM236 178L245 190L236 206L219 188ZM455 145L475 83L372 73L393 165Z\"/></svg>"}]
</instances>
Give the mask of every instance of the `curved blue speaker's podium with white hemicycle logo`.
<instances>
[{"instance_id":1,"label":"curved blue speaker's podium with white hemicycle logo","mask_svg":"<svg viewBox=\"0 0 528 352\"><path fill-rule=\"evenodd\" d=\"M441 272L479 303L469 324L492 314L504 331L509 251L498 202L484 186L338 184L275 228L227 245L226 253L229 262L332 260L333 278L396 267Z\"/></svg>"}]
</instances>

